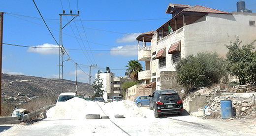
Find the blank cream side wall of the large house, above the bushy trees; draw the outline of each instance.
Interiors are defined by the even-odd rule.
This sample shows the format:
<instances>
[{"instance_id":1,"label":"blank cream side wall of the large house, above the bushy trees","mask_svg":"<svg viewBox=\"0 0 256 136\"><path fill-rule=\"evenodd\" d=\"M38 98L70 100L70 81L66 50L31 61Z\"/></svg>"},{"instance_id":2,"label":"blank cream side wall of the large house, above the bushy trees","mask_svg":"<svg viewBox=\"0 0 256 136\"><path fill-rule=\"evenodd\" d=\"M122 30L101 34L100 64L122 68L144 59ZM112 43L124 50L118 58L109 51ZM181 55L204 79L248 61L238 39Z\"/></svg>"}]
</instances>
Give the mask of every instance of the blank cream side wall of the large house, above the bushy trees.
<instances>
[{"instance_id":1,"label":"blank cream side wall of the large house, above the bushy trees","mask_svg":"<svg viewBox=\"0 0 256 136\"><path fill-rule=\"evenodd\" d=\"M208 14L206 21L184 26L184 55L216 51L225 57L225 45L234 42L236 35L242 45L250 44L256 39L256 27L250 26L249 21L256 21L256 13Z\"/></svg>"}]
</instances>

